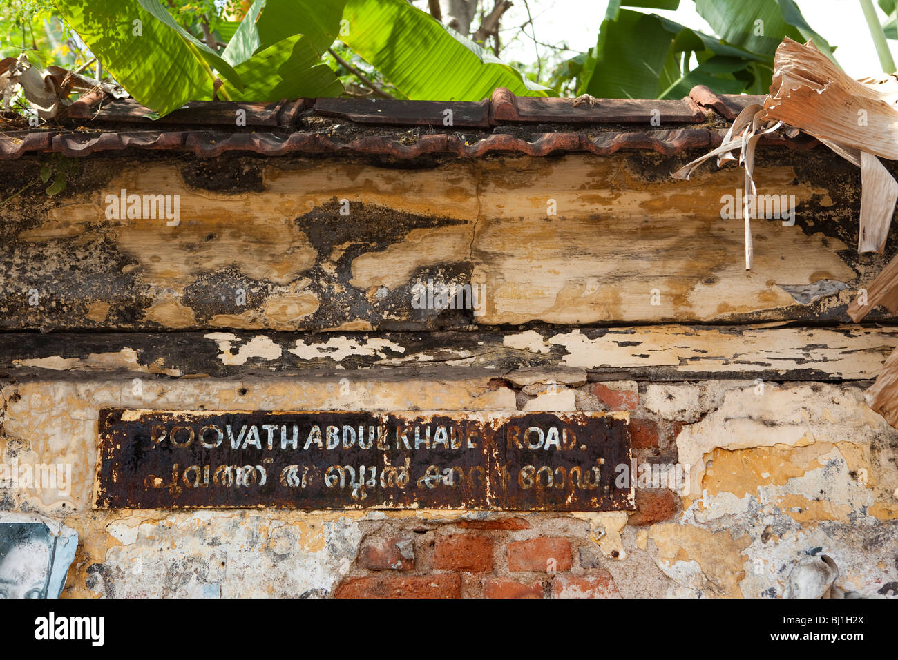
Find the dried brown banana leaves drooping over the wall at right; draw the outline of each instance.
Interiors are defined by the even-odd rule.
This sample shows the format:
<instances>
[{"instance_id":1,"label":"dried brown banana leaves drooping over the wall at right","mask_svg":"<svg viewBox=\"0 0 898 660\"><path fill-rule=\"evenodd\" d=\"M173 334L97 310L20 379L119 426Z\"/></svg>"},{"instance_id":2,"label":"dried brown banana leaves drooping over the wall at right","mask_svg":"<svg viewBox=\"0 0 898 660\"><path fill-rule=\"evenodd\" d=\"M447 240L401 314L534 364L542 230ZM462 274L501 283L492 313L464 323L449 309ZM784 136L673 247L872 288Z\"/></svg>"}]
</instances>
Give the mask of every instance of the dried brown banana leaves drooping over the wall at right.
<instances>
[{"instance_id":1,"label":"dried brown banana leaves drooping over the wall at right","mask_svg":"<svg viewBox=\"0 0 898 660\"><path fill-rule=\"evenodd\" d=\"M858 251L882 254L898 202L898 181L879 158L898 160L898 77L853 80L813 42L802 45L787 38L777 49L773 82L763 107L746 107L727 131L723 145L674 172L674 178L688 179L700 163L715 155L718 166L727 160L744 166L746 268L751 268L753 257L749 205L756 203L754 147L762 135L780 126L803 130L860 168ZM898 312L898 256L859 292L848 314L858 322L880 304L893 314ZM898 349L885 361L865 396L870 408L898 428Z\"/></svg>"}]
</instances>

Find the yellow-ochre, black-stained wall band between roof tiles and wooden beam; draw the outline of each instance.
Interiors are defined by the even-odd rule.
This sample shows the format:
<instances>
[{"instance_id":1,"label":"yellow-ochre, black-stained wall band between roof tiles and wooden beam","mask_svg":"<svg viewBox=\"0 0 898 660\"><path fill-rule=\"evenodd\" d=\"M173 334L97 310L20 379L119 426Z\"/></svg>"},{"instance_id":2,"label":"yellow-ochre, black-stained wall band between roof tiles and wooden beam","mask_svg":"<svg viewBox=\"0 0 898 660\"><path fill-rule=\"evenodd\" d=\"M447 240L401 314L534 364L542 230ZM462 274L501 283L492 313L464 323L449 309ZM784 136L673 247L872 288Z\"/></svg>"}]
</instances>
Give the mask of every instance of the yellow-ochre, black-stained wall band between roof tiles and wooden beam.
<instances>
[{"instance_id":1,"label":"yellow-ochre, black-stained wall band between roof tiles and wooden beam","mask_svg":"<svg viewBox=\"0 0 898 660\"><path fill-rule=\"evenodd\" d=\"M57 198L35 189L4 205L0 327L849 321L846 305L886 260L854 247L857 168L821 152L759 153L759 190L793 196L796 213L794 226L753 224L751 272L742 223L720 215L742 174L702 169L674 182L669 173L687 154L406 169L351 158L99 154L79 160ZM37 177L38 164L24 157L14 170ZM0 163L4 176L13 177L9 163ZM179 195L180 224L110 218L106 196L122 189ZM482 312L412 308L412 286L428 279L485 286Z\"/></svg>"}]
</instances>

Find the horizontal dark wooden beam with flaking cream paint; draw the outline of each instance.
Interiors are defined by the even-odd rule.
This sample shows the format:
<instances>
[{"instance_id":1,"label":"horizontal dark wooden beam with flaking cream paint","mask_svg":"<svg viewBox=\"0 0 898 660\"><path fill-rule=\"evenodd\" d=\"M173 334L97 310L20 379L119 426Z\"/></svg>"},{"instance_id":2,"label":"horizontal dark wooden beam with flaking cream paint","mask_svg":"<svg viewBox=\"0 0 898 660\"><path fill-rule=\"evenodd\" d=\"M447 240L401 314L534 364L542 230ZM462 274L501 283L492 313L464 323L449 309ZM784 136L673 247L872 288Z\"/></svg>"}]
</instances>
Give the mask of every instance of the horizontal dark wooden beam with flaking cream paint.
<instances>
[{"instance_id":1,"label":"horizontal dark wooden beam with flaking cream paint","mask_svg":"<svg viewBox=\"0 0 898 660\"><path fill-rule=\"evenodd\" d=\"M853 381L876 377L898 328L748 326L436 332L7 333L0 372L378 377L422 370L582 373L589 380ZM549 376L546 376L549 377Z\"/></svg>"}]
</instances>

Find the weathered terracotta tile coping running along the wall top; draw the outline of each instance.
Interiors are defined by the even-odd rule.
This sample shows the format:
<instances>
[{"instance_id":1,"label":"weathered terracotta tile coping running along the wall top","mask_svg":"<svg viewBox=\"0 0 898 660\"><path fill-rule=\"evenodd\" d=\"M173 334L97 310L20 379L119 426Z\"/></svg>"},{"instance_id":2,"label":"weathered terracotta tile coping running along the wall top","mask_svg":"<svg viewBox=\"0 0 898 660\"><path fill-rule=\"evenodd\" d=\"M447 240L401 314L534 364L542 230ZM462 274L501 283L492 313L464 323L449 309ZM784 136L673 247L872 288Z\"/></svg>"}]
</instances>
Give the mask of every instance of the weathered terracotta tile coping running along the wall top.
<instances>
[{"instance_id":1,"label":"weathered terracotta tile coping running along the wall top","mask_svg":"<svg viewBox=\"0 0 898 660\"><path fill-rule=\"evenodd\" d=\"M251 152L373 154L402 160L424 154L607 155L621 149L678 154L719 145L724 123L714 113L732 119L758 99L762 97L718 96L696 87L691 98L682 101L600 99L592 107L575 107L572 99L515 97L500 88L491 99L478 102L195 102L153 121L146 118L149 110L134 100L86 95L69 107L63 128L0 133L0 157L46 151L86 156L125 149L186 151L204 158ZM245 127L236 126L238 110L245 111ZM445 110L452 110L451 126L446 125ZM627 128L633 123L644 126ZM797 148L813 144L781 136L765 136L762 142Z\"/></svg>"}]
</instances>

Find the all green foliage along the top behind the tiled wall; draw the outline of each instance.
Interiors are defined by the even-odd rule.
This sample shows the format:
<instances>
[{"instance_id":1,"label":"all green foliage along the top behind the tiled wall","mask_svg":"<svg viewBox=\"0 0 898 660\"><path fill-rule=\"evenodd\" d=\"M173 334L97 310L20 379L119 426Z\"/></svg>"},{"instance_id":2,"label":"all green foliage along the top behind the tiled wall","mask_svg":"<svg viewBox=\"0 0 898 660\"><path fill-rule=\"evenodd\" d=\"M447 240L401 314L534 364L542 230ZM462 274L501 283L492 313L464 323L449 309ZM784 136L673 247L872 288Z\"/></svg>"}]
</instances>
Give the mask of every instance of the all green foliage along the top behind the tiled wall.
<instances>
[{"instance_id":1,"label":"all green foliage along the top behind the tiled wall","mask_svg":"<svg viewBox=\"0 0 898 660\"><path fill-rule=\"evenodd\" d=\"M538 64L515 66L407 0L255 0L242 20L241 0L8 0L0 47L3 55L26 48L45 65L74 67L95 55L154 117L191 100L277 101L372 86L444 101L480 101L497 86L600 98L680 98L696 84L763 93L783 37L813 38L832 57L795 0L693 1L715 35L634 9L674 10L681 0L611 0L594 48L562 44ZM895 0L878 2L892 14L885 34L898 39Z\"/></svg>"}]
</instances>

